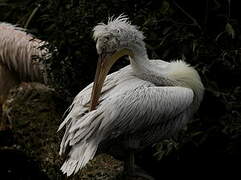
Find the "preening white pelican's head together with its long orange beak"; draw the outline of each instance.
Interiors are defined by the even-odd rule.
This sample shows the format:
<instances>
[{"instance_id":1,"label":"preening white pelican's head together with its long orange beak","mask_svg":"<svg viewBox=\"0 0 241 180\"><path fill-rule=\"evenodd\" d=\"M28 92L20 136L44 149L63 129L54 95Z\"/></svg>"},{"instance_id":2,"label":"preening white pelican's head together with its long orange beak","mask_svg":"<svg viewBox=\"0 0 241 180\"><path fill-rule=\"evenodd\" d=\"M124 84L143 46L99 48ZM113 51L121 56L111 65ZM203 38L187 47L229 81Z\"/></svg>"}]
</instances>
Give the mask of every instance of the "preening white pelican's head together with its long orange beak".
<instances>
[{"instance_id":1,"label":"preening white pelican's head together with its long orange beak","mask_svg":"<svg viewBox=\"0 0 241 180\"><path fill-rule=\"evenodd\" d=\"M104 80L113 64L122 56L134 56L138 49L145 48L144 35L132 25L125 15L109 18L93 29L99 60L91 96L90 110L95 109Z\"/></svg>"}]
</instances>

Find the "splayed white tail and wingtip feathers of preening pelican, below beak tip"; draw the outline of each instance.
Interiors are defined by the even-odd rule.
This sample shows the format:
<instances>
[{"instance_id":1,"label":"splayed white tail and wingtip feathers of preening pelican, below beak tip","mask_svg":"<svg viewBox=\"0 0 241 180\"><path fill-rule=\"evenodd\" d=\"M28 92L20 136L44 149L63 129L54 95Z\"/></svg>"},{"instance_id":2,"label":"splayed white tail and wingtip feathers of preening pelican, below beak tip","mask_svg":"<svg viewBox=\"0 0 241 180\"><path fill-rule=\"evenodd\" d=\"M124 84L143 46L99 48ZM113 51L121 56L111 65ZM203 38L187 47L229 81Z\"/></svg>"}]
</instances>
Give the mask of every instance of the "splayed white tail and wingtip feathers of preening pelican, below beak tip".
<instances>
[{"instance_id":1,"label":"splayed white tail and wingtip feathers of preening pelican, below beak tip","mask_svg":"<svg viewBox=\"0 0 241 180\"><path fill-rule=\"evenodd\" d=\"M99 129L103 118L101 112L90 112L80 119L71 120L66 125L60 154L65 152L67 146L71 147L69 157L61 167L67 176L77 173L94 158L103 137Z\"/></svg>"}]
</instances>

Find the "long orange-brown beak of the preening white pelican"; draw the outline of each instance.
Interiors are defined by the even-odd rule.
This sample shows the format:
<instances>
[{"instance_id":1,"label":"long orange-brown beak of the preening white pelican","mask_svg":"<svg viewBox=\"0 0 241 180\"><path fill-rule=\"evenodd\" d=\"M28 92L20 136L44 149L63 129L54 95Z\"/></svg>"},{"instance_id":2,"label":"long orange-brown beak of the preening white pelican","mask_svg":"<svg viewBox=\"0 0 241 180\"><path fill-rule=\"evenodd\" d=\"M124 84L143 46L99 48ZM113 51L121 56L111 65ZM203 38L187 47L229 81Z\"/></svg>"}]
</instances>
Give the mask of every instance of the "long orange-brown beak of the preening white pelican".
<instances>
[{"instance_id":1,"label":"long orange-brown beak of the preening white pelican","mask_svg":"<svg viewBox=\"0 0 241 180\"><path fill-rule=\"evenodd\" d=\"M98 105L98 100L101 95L101 90L102 90L105 78L110 71L110 68L120 57L125 55L133 57L133 53L129 49L122 49L120 51L113 53L112 55L101 54L99 56L97 69L95 73L94 85L91 93L90 111L94 110Z\"/></svg>"}]
</instances>

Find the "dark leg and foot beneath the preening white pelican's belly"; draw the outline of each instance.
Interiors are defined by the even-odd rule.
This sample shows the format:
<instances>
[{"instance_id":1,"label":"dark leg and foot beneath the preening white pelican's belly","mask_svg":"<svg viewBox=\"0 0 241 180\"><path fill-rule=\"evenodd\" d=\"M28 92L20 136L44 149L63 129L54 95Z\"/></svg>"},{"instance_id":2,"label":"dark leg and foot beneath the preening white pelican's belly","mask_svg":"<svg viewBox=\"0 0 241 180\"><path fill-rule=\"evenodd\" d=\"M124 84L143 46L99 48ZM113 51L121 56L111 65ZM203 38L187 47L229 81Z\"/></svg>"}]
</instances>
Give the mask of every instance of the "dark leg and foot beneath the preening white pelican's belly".
<instances>
[{"instance_id":1,"label":"dark leg and foot beneath the preening white pelican's belly","mask_svg":"<svg viewBox=\"0 0 241 180\"><path fill-rule=\"evenodd\" d=\"M142 177L146 180L155 180L153 177L148 175L144 170L135 165L135 155L133 149L129 150L128 156L125 159L124 172L127 175L127 180L130 180L130 177Z\"/></svg>"}]
</instances>

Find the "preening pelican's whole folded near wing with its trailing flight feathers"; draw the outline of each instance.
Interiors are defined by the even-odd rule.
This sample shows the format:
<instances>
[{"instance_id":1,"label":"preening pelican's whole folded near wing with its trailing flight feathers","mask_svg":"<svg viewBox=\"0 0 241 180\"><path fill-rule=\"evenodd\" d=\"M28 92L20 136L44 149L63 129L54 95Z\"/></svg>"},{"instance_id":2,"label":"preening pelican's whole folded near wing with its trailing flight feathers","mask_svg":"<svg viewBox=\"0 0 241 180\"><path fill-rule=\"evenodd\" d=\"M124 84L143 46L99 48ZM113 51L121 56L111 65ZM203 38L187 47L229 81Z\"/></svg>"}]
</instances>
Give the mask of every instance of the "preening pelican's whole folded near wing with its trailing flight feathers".
<instances>
[{"instance_id":1,"label":"preening pelican's whole folded near wing with its trailing flight feathers","mask_svg":"<svg viewBox=\"0 0 241 180\"><path fill-rule=\"evenodd\" d=\"M118 92L102 101L97 110L72 121L62 144L64 149L97 134L101 140L106 140L162 124L180 115L193 101L194 94L189 88L151 84L143 87L140 80L132 81L129 81L128 91L119 93L123 91L118 88ZM142 84L136 88L135 82Z\"/></svg>"}]
</instances>

